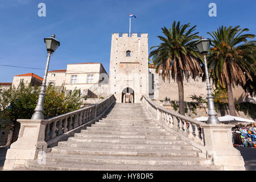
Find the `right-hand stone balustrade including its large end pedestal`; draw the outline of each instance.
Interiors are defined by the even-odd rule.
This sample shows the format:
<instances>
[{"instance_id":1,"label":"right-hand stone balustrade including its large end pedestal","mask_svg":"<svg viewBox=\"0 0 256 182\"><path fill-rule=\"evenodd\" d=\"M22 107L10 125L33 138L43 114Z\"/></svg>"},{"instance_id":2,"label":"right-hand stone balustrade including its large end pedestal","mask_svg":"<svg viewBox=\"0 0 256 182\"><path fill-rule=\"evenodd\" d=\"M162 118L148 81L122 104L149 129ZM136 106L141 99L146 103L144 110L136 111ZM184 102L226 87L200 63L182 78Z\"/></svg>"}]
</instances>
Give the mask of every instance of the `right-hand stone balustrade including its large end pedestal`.
<instances>
[{"instance_id":1,"label":"right-hand stone balustrade including its large end pedestal","mask_svg":"<svg viewBox=\"0 0 256 182\"><path fill-rule=\"evenodd\" d=\"M235 125L209 125L156 105L142 96L142 105L158 125L201 151L200 157L212 159L224 170L245 170L240 151L233 147L231 129Z\"/></svg>"}]
</instances>

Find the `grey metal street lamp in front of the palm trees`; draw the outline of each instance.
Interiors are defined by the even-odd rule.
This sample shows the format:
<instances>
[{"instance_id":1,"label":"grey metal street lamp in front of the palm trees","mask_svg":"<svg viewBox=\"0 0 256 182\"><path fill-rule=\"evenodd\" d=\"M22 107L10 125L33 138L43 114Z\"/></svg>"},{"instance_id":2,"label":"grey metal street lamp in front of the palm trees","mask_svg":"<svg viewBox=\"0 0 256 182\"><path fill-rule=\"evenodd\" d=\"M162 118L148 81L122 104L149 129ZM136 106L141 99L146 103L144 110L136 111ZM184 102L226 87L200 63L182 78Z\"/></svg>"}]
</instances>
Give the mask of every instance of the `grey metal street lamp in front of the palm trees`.
<instances>
[{"instance_id":1,"label":"grey metal street lamp in front of the palm trees","mask_svg":"<svg viewBox=\"0 0 256 182\"><path fill-rule=\"evenodd\" d=\"M208 124L220 124L220 121L217 118L217 113L214 108L214 97L212 96L212 92L210 91L210 80L209 80L209 73L208 73L208 67L207 67L207 53L209 52L210 48L210 40L204 39L204 36L201 36L201 39L199 42L196 43L196 48L199 50L199 52L204 57L204 67L205 67L205 74L207 79L207 100L208 100L208 115L209 118L207 120Z\"/></svg>"}]
</instances>

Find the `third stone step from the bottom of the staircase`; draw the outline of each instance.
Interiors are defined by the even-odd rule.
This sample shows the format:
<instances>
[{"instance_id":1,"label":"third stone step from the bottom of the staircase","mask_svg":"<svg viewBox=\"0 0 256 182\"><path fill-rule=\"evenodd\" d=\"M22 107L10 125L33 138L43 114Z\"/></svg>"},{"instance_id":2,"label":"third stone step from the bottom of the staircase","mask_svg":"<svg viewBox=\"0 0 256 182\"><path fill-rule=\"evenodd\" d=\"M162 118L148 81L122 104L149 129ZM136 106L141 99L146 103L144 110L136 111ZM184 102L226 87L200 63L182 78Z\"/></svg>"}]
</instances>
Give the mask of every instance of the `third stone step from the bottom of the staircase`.
<instances>
[{"instance_id":1,"label":"third stone step from the bottom of the staircase","mask_svg":"<svg viewBox=\"0 0 256 182\"><path fill-rule=\"evenodd\" d=\"M79 154L79 155L114 155L114 156L198 156L197 151L193 150L113 150L104 148L97 150L94 148L68 148L53 147L54 154Z\"/></svg>"}]
</instances>

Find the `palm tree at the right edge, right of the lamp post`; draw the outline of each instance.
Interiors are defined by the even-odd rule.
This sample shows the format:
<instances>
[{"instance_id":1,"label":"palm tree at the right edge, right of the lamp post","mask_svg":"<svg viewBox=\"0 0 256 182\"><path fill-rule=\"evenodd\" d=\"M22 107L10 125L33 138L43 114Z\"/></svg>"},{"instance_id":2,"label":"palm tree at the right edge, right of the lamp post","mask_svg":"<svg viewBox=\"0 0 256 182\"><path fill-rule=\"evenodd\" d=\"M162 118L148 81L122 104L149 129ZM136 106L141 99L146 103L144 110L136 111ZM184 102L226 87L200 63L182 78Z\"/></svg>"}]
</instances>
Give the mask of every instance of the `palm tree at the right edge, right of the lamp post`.
<instances>
[{"instance_id":1,"label":"palm tree at the right edge, right of the lamp post","mask_svg":"<svg viewBox=\"0 0 256 182\"><path fill-rule=\"evenodd\" d=\"M253 80L251 73L255 73L255 42L247 42L247 38L254 38L254 34L242 34L247 28L223 27L208 34L212 36L212 48L209 55L210 77L216 85L220 81L226 88L230 115L236 116L232 87L244 86L246 78Z\"/></svg>"}]
</instances>

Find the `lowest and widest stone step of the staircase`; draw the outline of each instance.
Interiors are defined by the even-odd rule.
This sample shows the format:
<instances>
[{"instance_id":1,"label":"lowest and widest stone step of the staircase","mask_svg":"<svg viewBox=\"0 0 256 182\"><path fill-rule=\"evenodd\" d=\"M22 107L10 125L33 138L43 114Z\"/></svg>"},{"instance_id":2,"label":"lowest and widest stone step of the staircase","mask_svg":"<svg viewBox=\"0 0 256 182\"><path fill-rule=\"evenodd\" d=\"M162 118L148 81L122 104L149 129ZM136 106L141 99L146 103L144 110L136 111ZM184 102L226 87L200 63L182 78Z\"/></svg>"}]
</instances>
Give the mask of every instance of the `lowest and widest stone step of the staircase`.
<instances>
[{"instance_id":1,"label":"lowest and widest stone step of the staircase","mask_svg":"<svg viewBox=\"0 0 256 182\"><path fill-rule=\"evenodd\" d=\"M142 165L123 165L123 164L81 164L52 162L47 160L47 165L38 164L37 160L28 160L26 170L38 171L218 171L220 168L208 165L190 165L190 166L142 166ZM24 170L24 169L23 169ZM127 177L127 176L126 176ZM125 179L125 178L122 178Z\"/></svg>"}]
</instances>

